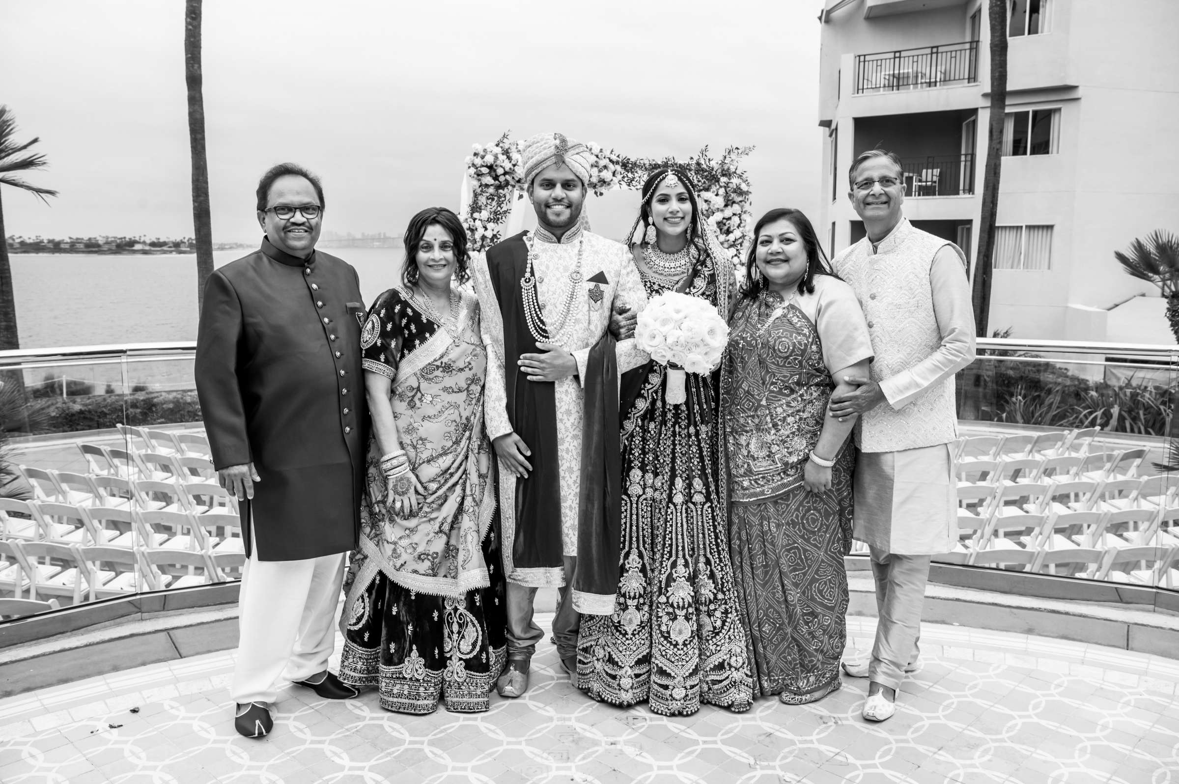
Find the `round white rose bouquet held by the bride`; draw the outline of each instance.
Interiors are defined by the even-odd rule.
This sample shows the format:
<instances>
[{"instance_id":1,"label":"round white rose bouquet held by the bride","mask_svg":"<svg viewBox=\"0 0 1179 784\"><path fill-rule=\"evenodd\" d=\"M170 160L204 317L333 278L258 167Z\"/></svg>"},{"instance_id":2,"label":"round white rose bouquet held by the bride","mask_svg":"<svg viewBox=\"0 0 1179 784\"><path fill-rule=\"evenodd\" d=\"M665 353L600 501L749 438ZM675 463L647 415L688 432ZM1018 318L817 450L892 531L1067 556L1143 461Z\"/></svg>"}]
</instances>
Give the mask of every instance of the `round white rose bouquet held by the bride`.
<instances>
[{"instance_id":1,"label":"round white rose bouquet held by the bride","mask_svg":"<svg viewBox=\"0 0 1179 784\"><path fill-rule=\"evenodd\" d=\"M667 402L683 403L685 373L712 373L729 343L729 324L709 302L677 291L653 297L634 329L639 348L667 365Z\"/></svg>"}]
</instances>

